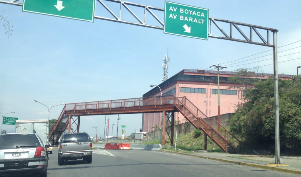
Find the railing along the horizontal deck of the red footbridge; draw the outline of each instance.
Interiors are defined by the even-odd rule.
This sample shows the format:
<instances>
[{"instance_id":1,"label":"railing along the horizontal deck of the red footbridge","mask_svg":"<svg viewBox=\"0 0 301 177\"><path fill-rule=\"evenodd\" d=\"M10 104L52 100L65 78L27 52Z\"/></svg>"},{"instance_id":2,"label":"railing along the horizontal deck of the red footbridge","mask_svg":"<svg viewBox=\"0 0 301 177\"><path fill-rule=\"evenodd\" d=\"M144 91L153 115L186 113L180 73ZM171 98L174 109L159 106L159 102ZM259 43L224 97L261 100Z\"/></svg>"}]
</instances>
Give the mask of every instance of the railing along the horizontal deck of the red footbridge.
<instances>
[{"instance_id":1,"label":"railing along the horizontal deck of the red footbridge","mask_svg":"<svg viewBox=\"0 0 301 177\"><path fill-rule=\"evenodd\" d=\"M166 95L158 97L70 103L65 105L65 110L90 110L117 107L140 107L149 105L173 104L174 98L175 96L173 95Z\"/></svg>"}]
</instances>

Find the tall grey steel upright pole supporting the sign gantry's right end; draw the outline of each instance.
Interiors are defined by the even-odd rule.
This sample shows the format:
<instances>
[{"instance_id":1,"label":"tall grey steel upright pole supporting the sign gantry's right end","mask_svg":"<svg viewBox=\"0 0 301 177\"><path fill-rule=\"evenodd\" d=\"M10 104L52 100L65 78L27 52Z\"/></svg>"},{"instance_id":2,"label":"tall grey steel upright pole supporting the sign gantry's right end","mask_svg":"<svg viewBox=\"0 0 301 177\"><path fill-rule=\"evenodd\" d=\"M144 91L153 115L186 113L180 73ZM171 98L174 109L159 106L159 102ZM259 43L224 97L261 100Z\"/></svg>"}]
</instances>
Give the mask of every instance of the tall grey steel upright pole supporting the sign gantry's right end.
<instances>
[{"instance_id":1,"label":"tall grey steel upright pole supporting the sign gantry's right end","mask_svg":"<svg viewBox=\"0 0 301 177\"><path fill-rule=\"evenodd\" d=\"M277 66L277 31L273 32L274 41L274 106L275 106L275 164L282 164L279 143L279 97L278 97L278 66Z\"/></svg>"}]
</instances>

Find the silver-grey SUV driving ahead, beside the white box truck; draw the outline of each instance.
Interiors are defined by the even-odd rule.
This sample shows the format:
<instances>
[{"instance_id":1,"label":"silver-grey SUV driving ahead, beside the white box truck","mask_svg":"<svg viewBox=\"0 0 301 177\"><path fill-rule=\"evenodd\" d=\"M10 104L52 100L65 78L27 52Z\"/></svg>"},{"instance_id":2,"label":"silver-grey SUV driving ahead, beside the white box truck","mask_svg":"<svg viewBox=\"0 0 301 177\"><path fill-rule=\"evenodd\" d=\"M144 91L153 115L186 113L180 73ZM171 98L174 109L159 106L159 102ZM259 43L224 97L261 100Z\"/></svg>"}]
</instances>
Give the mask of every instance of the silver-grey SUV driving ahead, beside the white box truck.
<instances>
[{"instance_id":1,"label":"silver-grey SUV driving ahead, beside the white box truck","mask_svg":"<svg viewBox=\"0 0 301 177\"><path fill-rule=\"evenodd\" d=\"M57 163L64 165L64 161L83 159L92 163L92 142L87 133L68 133L60 138Z\"/></svg>"}]
</instances>

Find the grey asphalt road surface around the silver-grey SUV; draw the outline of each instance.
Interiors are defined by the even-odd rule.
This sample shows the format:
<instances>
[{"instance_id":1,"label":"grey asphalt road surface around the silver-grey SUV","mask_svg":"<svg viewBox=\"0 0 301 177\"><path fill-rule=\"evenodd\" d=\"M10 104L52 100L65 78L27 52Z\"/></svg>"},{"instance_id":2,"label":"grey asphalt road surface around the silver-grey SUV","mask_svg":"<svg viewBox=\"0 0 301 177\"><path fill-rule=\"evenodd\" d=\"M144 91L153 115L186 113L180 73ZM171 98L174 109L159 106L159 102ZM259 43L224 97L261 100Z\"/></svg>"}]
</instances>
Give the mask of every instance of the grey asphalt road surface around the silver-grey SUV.
<instances>
[{"instance_id":1,"label":"grey asphalt road surface around the silver-grey SUV","mask_svg":"<svg viewBox=\"0 0 301 177\"><path fill-rule=\"evenodd\" d=\"M92 164L83 160L57 164L57 149L49 154L48 177L93 176L173 176L173 177L234 177L234 176L293 176L286 173L250 168L210 159L176 155L160 151L93 150Z\"/></svg>"}]
</instances>

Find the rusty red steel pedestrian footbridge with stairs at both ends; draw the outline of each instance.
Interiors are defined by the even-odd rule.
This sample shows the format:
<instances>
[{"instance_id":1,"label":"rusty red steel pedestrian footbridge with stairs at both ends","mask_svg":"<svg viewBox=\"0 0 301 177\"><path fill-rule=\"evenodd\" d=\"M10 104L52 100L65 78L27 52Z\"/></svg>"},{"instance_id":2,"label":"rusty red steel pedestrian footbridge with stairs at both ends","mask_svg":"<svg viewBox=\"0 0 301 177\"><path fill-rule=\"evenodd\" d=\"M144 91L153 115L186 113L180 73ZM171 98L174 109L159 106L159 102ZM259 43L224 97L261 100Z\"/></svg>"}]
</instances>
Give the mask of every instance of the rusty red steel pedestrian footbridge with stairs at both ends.
<instances>
[{"instance_id":1,"label":"rusty red steel pedestrian footbridge with stairs at both ends","mask_svg":"<svg viewBox=\"0 0 301 177\"><path fill-rule=\"evenodd\" d=\"M174 144L174 112L180 112L196 129L204 132L204 150L207 150L207 137L226 153L240 152L241 142L215 119L207 117L186 97L173 95L130 98L122 100L94 101L65 104L56 124L49 134L49 142L58 142L62 133L68 128L68 133L79 132L80 117L91 115L163 113L162 145L169 139ZM170 128L166 128L169 122ZM74 128L73 130L71 129ZM218 131L217 127L220 127Z\"/></svg>"}]
</instances>

